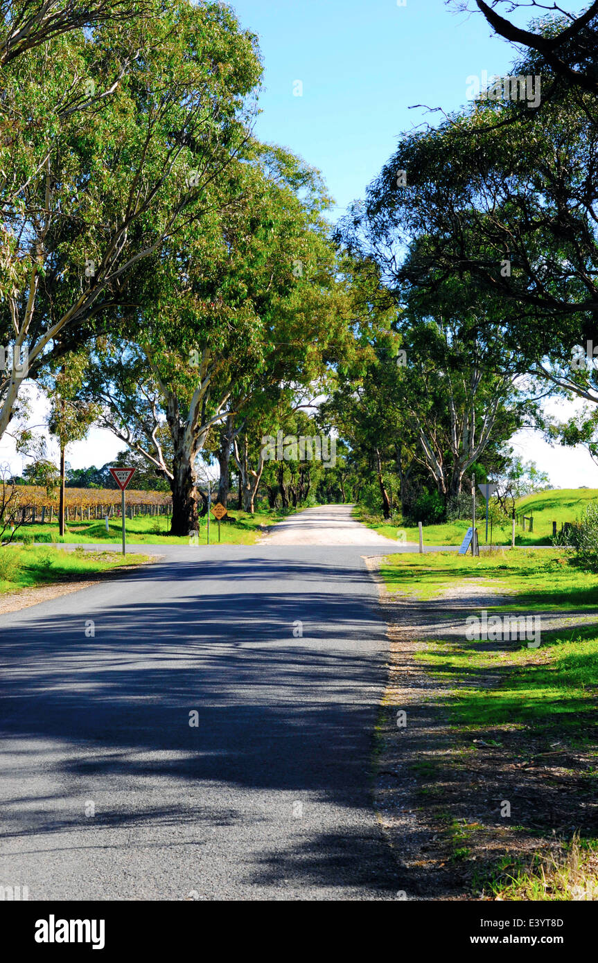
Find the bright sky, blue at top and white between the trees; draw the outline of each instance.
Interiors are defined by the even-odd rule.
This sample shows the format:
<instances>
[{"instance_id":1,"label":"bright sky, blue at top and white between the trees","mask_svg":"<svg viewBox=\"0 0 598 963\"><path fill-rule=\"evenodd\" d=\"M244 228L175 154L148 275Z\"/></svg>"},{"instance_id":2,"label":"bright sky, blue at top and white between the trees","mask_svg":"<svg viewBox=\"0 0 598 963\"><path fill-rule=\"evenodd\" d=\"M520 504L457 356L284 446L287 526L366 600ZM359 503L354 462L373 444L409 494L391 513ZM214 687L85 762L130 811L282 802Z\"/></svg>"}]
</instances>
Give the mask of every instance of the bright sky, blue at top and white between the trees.
<instances>
[{"instance_id":1,"label":"bright sky, blue at top and white between the trees","mask_svg":"<svg viewBox=\"0 0 598 963\"><path fill-rule=\"evenodd\" d=\"M516 56L506 41L490 36L481 14L455 13L444 0L403 6L397 0L237 0L231 6L258 35L262 51L255 133L322 170L337 205L334 218L363 196L403 131L441 119L427 108L458 109L467 101L469 76L504 75ZM418 104L426 106L409 109ZM513 442L555 485L598 486L598 467L583 450L551 449L529 431ZM123 447L95 430L68 449L67 460L73 467L101 465ZM7 455L10 447L0 444L0 459ZM20 470L21 459L11 460Z\"/></svg>"}]
</instances>

